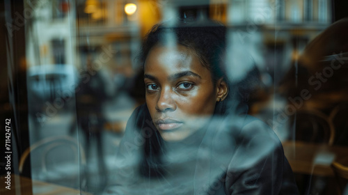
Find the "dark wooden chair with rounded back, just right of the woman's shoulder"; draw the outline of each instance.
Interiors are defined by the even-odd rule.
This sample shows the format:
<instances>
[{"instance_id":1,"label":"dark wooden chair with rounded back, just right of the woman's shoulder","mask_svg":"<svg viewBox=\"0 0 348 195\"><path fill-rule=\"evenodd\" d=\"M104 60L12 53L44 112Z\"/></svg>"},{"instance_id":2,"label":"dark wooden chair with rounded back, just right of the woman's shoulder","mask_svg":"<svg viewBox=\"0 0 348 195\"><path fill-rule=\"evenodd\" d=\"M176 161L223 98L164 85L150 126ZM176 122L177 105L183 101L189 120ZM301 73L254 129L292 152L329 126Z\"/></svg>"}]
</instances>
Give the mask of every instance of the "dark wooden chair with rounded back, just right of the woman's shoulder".
<instances>
[{"instance_id":1,"label":"dark wooden chair with rounded back, just right of the woman's shoulder","mask_svg":"<svg viewBox=\"0 0 348 195\"><path fill-rule=\"evenodd\" d=\"M335 138L335 127L333 127L329 116L324 114L322 111L317 109L299 109L296 111L296 114L292 117L291 123L294 127L294 141L299 141L300 143L307 143L308 145L322 145L322 146L332 146ZM296 151L297 157L300 157L300 161L295 161L298 164L292 164L295 166L294 169L302 170L307 169L310 175L308 174L297 174L296 180L302 180L303 183L299 186L301 194L321 194L324 192L324 188L321 183L328 183L329 178L322 176L322 171L325 166L330 166L330 159L324 162L317 162L317 153L321 152L321 148L318 147L317 150L313 151L313 162L309 162L309 166L304 159L306 156L306 148L303 148L302 151ZM310 154L312 155L312 154ZM301 164L301 161L303 164ZM325 159L326 160L326 159ZM332 160L332 159L331 159ZM324 163L324 164L323 164ZM306 168L304 168L306 167Z\"/></svg>"}]
</instances>

